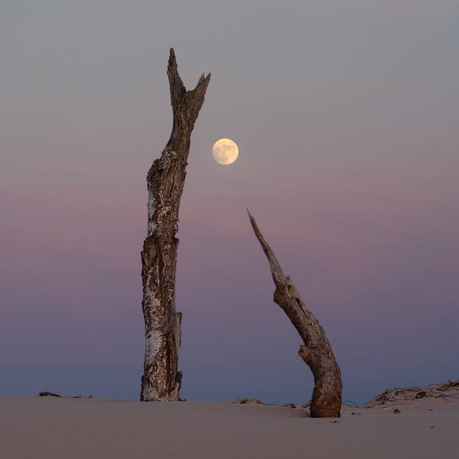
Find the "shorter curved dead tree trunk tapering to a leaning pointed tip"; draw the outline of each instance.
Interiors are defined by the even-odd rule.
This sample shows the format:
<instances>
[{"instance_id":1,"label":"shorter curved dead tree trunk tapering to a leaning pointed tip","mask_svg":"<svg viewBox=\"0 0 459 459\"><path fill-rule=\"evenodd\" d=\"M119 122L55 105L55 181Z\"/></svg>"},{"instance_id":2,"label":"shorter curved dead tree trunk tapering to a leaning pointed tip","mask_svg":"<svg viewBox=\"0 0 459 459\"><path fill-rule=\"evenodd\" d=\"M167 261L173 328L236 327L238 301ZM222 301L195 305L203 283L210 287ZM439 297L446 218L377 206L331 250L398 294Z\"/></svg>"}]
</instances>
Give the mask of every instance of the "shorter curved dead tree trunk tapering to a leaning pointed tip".
<instances>
[{"instance_id":1,"label":"shorter curved dead tree trunk tapering to a leaning pointed tip","mask_svg":"<svg viewBox=\"0 0 459 459\"><path fill-rule=\"evenodd\" d=\"M340 417L341 371L331 350L330 342L316 318L304 306L290 276L285 277L274 252L263 239L254 217L250 213L249 217L256 238L268 257L275 283L274 301L290 318L304 342L304 346L300 346L299 355L309 365L314 375L311 417Z\"/></svg>"}]
</instances>

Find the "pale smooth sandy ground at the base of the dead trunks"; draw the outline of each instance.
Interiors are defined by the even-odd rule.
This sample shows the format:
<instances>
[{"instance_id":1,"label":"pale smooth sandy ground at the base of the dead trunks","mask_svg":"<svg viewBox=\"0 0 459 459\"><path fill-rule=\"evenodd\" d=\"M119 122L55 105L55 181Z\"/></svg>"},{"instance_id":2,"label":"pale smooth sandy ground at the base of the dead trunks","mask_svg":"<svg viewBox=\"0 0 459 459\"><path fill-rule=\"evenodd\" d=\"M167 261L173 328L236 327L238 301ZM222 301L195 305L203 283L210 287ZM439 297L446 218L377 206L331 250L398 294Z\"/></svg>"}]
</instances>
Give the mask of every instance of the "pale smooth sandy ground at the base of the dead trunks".
<instances>
[{"instance_id":1,"label":"pale smooth sandy ground at the base of the dead trunks","mask_svg":"<svg viewBox=\"0 0 459 459\"><path fill-rule=\"evenodd\" d=\"M1 397L0 458L459 457L458 398L343 409L339 419L311 419L267 405Z\"/></svg>"}]
</instances>

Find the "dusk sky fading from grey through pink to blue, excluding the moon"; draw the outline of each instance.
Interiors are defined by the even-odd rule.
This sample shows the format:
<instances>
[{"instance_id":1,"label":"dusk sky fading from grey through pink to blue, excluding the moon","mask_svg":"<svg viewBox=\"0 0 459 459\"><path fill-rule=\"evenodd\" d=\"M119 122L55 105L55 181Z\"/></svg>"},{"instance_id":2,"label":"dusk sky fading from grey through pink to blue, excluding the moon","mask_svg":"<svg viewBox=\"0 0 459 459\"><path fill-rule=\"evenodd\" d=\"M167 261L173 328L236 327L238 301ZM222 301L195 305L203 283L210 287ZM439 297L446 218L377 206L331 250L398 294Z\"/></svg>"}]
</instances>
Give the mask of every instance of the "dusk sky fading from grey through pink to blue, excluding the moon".
<instances>
[{"instance_id":1,"label":"dusk sky fading from grey through pink to blue, excluding the moon","mask_svg":"<svg viewBox=\"0 0 459 459\"><path fill-rule=\"evenodd\" d=\"M0 395L140 396L170 47L186 88L212 73L177 234L182 398L311 397L246 208L343 400L457 380L458 43L448 0L3 0Z\"/></svg>"}]
</instances>

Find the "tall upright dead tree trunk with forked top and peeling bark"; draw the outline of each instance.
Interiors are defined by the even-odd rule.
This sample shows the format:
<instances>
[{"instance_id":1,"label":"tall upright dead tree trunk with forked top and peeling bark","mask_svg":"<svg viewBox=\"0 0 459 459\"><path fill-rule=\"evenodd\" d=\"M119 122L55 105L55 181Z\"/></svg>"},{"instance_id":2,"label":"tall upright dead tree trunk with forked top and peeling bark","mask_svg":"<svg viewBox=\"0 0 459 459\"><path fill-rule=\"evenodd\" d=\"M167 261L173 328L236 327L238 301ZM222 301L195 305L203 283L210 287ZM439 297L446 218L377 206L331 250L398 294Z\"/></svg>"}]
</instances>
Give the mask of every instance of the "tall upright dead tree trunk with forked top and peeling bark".
<instances>
[{"instance_id":1,"label":"tall upright dead tree trunk with forked top and peeling bark","mask_svg":"<svg viewBox=\"0 0 459 459\"><path fill-rule=\"evenodd\" d=\"M181 313L175 309L175 270L179 239L179 205L184 189L190 137L198 118L210 73L186 91L171 48L169 77L174 124L161 157L147 174L148 235L143 243L142 280L145 318L145 364L141 401L180 400L181 372L177 365Z\"/></svg>"}]
</instances>

